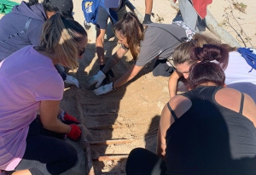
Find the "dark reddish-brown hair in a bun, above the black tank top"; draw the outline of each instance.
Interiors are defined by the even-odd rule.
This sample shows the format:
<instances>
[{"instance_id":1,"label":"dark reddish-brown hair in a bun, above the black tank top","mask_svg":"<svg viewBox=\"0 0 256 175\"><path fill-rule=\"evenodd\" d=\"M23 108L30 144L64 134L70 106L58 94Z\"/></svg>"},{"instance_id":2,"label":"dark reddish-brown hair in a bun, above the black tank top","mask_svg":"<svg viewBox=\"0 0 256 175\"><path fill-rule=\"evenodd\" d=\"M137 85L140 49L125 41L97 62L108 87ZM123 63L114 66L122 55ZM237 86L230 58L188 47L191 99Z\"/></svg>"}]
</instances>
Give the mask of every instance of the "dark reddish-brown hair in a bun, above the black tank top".
<instances>
[{"instance_id":1,"label":"dark reddish-brown hair in a bun, above the black tank top","mask_svg":"<svg viewBox=\"0 0 256 175\"><path fill-rule=\"evenodd\" d=\"M194 89L206 82L224 86L224 69L228 64L229 51L221 46L205 44L192 48L190 59L196 63L189 69L188 88Z\"/></svg>"}]
</instances>

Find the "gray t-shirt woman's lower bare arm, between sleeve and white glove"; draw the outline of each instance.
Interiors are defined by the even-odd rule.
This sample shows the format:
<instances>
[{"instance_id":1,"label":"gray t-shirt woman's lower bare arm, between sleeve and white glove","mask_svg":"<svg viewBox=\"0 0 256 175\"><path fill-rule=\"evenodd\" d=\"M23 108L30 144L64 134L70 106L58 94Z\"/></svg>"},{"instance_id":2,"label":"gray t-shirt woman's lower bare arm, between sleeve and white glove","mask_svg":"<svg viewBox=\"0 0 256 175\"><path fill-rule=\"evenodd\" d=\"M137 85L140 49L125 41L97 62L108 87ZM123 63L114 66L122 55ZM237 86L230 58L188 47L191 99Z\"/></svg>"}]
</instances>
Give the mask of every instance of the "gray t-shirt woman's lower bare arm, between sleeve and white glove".
<instances>
[{"instance_id":1,"label":"gray t-shirt woman's lower bare arm, between sleeve and white glove","mask_svg":"<svg viewBox=\"0 0 256 175\"><path fill-rule=\"evenodd\" d=\"M143 69L143 66L132 65L129 71L126 71L123 76L113 82L113 88L118 88L129 82L134 76L137 76L138 72Z\"/></svg>"}]
</instances>

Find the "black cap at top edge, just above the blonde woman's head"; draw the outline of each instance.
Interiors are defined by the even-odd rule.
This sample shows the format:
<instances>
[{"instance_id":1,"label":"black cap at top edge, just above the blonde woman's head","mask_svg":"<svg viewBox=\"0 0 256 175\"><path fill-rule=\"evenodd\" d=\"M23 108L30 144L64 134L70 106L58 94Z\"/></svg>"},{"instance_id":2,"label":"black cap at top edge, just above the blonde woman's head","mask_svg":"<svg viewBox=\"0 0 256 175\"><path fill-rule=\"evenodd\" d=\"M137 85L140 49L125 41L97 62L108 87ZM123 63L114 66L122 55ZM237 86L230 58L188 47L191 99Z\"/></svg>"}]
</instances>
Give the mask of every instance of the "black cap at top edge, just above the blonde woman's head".
<instances>
[{"instance_id":1,"label":"black cap at top edge, just above the blonde woman's head","mask_svg":"<svg viewBox=\"0 0 256 175\"><path fill-rule=\"evenodd\" d=\"M59 8L62 14L73 19L73 0L52 0L50 4L55 8Z\"/></svg>"}]
</instances>

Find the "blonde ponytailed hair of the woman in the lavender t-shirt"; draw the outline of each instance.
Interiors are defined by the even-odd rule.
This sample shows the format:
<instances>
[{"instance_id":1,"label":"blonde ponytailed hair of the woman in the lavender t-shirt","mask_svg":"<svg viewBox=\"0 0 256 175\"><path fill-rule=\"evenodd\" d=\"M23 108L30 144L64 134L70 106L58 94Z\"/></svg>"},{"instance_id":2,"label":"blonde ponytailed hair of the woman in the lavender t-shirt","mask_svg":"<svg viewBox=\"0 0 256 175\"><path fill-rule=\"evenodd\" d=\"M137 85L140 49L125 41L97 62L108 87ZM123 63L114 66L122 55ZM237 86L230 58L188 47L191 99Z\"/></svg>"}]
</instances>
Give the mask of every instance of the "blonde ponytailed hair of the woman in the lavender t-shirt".
<instances>
[{"instance_id":1,"label":"blonde ponytailed hair of the woman in the lavender t-shirt","mask_svg":"<svg viewBox=\"0 0 256 175\"><path fill-rule=\"evenodd\" d=\"M66 19L63 14L56 13L46 20L38 50L54 55L72 70L79 66L77 43L87 37L84 27L75 20Z\"/></svg>"}]
</instances>

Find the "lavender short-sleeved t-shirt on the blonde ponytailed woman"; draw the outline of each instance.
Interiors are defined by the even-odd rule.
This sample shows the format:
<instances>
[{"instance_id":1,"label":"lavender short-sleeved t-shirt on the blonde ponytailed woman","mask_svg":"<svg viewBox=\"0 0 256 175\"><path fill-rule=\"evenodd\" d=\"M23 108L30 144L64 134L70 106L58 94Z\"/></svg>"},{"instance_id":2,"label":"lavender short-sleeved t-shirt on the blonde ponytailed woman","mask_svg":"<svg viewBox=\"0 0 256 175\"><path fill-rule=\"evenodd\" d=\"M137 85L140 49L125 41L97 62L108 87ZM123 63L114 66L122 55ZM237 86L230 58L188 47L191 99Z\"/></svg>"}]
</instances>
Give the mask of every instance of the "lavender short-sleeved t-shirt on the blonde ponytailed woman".
<instances>
[{"instance_id":1,"label":"lavender short-sleeved t-shirt on the blonde ponytailed woman","mask_svg":"<svg viewBox=\"0 0 256 175\"><path fill-rule=\"evenodd\" d=\"M61 100L63 90L52 60L32 46L0 63L0 169L10 171L19 164L40 101Z\"/></svg>"}]
</instances>

